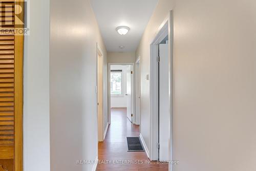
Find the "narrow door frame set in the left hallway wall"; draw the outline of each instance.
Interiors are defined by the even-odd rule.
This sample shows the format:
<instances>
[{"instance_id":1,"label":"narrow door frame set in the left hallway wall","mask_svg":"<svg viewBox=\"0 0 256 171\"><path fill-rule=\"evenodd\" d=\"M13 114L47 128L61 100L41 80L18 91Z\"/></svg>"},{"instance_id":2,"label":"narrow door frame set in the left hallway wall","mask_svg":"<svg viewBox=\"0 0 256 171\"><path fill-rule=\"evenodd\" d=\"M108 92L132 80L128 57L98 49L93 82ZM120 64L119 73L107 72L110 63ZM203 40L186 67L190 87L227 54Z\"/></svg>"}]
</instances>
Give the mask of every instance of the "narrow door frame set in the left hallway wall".
<instances>
[{"instance_id":1,"label":"narrow door frame set in the left hallway wall","mask_svg":"<svg viewBox=\"0 0 256 171\"><path fill-rule=\"evenodd\" d=\"M103 133L104 133L104 128L103 128L103 61L104 61L104 56L103 56L103 51L101 50L101 48L100 48L100 46L99 46L99 44L97 43L96 44L96 49L97 49L97 51L96 51L96 61L97 61L97 67L96 67L96 79L97 79L97 85L96 85L96 88L95 88L95 92L96 92L96 108L97 108L97 143L99 142L99 141L103 141L104 140L104 135L103 135ZM100 56L100 57L99 57ZM99 84L99 82L98 82L98 77L99 77L99 75L98 75L98 68L99 68L99 63L98 63L98 60L99 60L99 58L101 58L100 60L101 60L101 71L102 71L102 74L101 74L101 81L102 81L102 85L101 85L101 89L102 89L102 91L101 91L101 93L102 93L102 99L101 99L101 102L102 102L102 104L101 104L101 110L102 110L102 112L101 112L101 115L99 116L99 111L98 111L98 84ZM101 127L100 127L100 131L98 130L99 129L99 119L100 119L100 122L101 122Z\"/></svg>"}]
</instances>

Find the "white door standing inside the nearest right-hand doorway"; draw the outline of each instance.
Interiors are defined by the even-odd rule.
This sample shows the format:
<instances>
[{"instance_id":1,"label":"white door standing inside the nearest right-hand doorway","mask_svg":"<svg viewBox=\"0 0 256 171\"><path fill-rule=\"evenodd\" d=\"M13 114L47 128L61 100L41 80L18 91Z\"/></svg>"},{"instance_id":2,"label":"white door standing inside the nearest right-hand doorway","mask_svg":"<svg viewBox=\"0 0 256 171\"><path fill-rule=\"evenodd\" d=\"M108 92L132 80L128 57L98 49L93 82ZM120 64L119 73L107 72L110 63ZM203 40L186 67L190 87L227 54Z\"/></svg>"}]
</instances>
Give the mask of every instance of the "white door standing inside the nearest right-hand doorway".
<instances>
[{"instance_id":1,"label":"white door standing inside the nearest right-hand doorway","mask_svg":"<svg viewBox=\"0 0 256 171\"><path fill-rule=\"evenodd\" d=\"M159 160L168 160L169 140L169 89L168 45L159 45Z\"/></svg>"}]
</instances>

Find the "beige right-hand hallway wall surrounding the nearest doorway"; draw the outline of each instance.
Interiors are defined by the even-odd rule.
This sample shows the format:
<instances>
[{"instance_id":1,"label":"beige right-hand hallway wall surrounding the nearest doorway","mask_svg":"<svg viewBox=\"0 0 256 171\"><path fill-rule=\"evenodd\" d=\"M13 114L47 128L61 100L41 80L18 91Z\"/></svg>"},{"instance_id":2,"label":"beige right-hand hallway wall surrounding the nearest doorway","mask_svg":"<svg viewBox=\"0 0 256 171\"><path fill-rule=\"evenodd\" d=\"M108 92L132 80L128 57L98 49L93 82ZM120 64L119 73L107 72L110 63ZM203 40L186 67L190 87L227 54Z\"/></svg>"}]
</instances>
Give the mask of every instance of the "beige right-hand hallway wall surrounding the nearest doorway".
<instances>
[{"instance_id":1,"label":"beige right-hand hallway wall surrounding the nearest doorway","mask_svg":"<svg viewBox=\"0 0 256 171\"><path fill-rule=\"evenodd\" d=\"M161 0L137 49L141 134L148 127L150 43L174 14L175 171L256 170L256 1Z\"/></svg>"}]
</instances>

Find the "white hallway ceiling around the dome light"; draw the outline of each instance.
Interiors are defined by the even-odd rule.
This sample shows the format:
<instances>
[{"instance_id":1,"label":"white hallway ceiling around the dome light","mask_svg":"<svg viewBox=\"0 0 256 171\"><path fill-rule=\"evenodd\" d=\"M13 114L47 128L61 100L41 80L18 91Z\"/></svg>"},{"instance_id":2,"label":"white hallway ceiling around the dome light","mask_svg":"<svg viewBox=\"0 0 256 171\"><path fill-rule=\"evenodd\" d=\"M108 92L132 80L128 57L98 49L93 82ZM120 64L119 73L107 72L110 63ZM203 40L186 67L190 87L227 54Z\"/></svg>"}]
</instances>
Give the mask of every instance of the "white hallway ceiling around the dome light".
<instances>
[{"instance_id":1,"label":"white hallway ceiling around the dome light","mask_svg":"<svg viewBox=\"0 0 256 171\"><path fill-rule=\"evenodd\" d=\"M106 49L109 52L134 52L158 0L91 0ZM119 35L118 26L128 26ZM124 46L120 49L119 46Z\"/></svg>"}]
</instances>

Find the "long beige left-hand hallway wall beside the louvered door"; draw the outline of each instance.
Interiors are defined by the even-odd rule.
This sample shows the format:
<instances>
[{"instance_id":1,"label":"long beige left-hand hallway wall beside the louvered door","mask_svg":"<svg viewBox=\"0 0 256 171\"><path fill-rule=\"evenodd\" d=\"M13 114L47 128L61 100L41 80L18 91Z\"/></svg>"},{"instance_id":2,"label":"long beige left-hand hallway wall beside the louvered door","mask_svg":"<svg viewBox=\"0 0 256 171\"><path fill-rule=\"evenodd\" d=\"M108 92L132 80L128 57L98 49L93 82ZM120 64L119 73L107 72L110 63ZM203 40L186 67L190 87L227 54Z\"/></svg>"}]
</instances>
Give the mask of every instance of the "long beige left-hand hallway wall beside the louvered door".
<instances>
[{"instance_id":1,"label":"long beige left-hand hallway wall beside the louvered door","mask_svg":"<svg viewBox=\"0 0 256 171\"><path fill-rule=\"evenodd\" d=\"M98 155L96 42L104 55L107 102L107 53L89 0L51 1L51 170L92 170L93 165L76 160ZM103 106L106 114L108 105Z\"/></svg>"}]
</instances>

